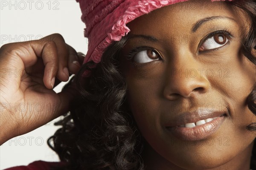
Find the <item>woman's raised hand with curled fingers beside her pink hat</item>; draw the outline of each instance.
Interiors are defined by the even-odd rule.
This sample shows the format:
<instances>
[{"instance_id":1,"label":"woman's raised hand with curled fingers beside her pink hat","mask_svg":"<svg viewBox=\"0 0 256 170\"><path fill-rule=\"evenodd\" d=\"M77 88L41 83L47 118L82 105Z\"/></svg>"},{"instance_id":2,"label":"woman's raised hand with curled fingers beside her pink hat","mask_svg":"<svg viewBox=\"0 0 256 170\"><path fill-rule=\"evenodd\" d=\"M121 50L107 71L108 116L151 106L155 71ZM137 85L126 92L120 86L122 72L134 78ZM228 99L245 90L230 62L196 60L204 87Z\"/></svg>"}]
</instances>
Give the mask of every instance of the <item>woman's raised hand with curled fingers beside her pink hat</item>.
<instances>
[{"instance_id":1,"label":"woman's raised hand with curled fingers beside her pink hat","mask_svg":"<svg viewBox=\"0 0 256 170\"><path fill-rule=\"evenodd\" d=\"M83 58L60 34L0 48L0 144L68 111L78 92L52 88L76 74Z\"/></svg>"}]
</instances>

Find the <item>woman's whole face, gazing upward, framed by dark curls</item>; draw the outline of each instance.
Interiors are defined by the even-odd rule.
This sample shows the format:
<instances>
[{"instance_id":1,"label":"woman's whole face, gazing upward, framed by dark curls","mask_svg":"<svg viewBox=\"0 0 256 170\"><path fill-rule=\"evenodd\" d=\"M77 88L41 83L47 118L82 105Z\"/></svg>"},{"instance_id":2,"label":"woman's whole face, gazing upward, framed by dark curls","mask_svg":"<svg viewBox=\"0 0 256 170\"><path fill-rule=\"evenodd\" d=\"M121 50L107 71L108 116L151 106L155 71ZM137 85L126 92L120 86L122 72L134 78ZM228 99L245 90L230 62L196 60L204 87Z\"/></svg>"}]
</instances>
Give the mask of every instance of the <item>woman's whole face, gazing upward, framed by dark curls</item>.
<instances>
[{"instance_id":1,"label":"woman's whole face, gazing upward, framed by dark curls","mask_svg":"<svg viewBox=\"0 0 256 170\"><path fill-rule=\"evenodd\" d=\"M223 2L195 0L128 24L121 68L131 111L148 142L148 167L249 166L255 133L246 126L255 116L246 99L256 70L241 53L248 25L241 11Z\"/></svg>"}]
</instances>

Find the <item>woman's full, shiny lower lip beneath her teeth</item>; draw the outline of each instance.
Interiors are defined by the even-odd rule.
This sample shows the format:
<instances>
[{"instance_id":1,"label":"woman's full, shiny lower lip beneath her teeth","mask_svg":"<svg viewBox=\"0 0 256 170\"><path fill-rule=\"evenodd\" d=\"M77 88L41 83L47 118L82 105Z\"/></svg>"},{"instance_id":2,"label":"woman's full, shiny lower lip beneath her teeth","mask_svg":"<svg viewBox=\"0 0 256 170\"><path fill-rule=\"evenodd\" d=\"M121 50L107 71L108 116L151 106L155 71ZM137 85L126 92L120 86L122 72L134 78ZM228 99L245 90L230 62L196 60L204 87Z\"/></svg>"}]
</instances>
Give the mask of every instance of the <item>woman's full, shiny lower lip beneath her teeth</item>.
<instances>
[{"instance_id":1,"label":"woman's full, shiny lower lip beneath her teeth","mask_svg":"<svg viewBox=\"0 0 256 170\"><path fill-rule=\"evenodd\" d=\"M186 140L186 141L196 141L200 139L206 139L212 133L214 133L222 125L225 120L225 116L220 116L211 122L205 123L204 125L199 125L196 127L167 127L167 130L172 133L173 136Z\"/></svg>"}]
</instances>

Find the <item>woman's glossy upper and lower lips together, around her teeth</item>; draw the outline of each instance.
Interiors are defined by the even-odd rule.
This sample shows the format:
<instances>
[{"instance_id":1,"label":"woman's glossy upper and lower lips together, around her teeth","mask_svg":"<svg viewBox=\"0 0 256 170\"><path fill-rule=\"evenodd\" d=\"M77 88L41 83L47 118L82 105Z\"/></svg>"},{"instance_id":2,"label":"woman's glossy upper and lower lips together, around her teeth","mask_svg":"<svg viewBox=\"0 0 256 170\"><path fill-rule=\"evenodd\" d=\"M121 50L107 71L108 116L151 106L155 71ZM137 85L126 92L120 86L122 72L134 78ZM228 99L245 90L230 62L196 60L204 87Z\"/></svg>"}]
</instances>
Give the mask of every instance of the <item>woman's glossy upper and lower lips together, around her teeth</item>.
<instances>
[{"instance_id":1,"label":"woman's glossy upper and lower lips together, around her teeth","mask_svg":"<svg viewBox=\"0 0 256 170\"><path fill-rule=\"evenodd\" d=\"M176 119L169 122L166 129L175 137L186 140L186 141L196 141L200 139L206 139L222 125L227 113L225 112L189 112L183 113ZM186 123L197 122L202 119L214 118L211 122L207 122L204 125L199 125L196 127L178 127L179 125L184 125Z\"/></svg>"}]
</instances>

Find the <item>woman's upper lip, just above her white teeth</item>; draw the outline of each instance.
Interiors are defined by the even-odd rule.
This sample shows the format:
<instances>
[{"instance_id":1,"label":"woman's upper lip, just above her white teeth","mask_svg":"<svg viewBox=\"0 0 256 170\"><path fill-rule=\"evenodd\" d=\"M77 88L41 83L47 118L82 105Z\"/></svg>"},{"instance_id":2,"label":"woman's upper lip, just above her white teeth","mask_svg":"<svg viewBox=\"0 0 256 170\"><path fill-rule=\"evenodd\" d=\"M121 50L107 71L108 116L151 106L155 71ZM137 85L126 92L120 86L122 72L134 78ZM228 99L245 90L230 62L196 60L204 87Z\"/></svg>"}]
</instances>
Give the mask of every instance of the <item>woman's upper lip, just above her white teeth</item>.
<instances>
[{"instance_id":1,"label":"woman's upper lip, just above her white teeth","mask_svg":"<svg viewBox=\"0 0 256 170\"><path fill-rule=\"evenodd\" d=\"M180 125L185 125L186 123L198 122L199 120L219 117L223 115L227 115L227 112L220 112L220 111L183 112L183 113L180 113L174 119L167 122L166 127L176 127Z\"/></svg>"}]
</instances>

